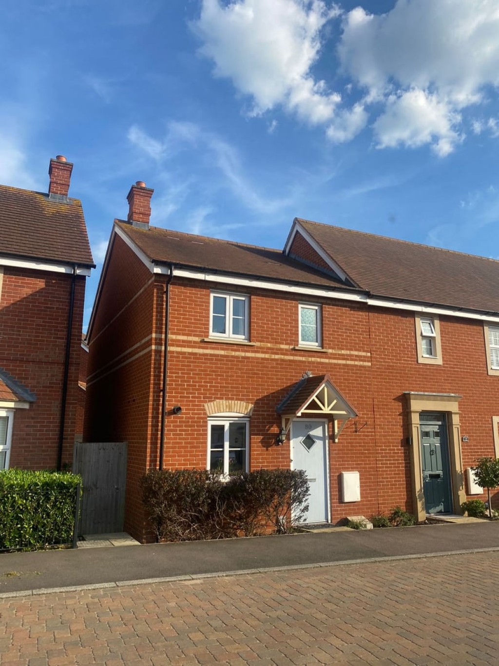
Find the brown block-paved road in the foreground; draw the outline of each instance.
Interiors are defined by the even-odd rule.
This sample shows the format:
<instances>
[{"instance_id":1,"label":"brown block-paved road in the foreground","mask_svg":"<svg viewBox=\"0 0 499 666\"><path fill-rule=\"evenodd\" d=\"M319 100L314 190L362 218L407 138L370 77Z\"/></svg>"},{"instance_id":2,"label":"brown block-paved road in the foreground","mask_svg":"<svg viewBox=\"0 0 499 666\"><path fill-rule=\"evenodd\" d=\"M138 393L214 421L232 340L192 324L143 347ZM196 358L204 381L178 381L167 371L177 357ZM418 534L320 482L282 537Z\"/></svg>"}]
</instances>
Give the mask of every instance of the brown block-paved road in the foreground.
<instances>
[{"instance_id":1,"label":"brown block-paved road in the foreground","mask_svg":"<svg viewBox=\"0 0 499 666\"><path fill-rule=\"evenodd\" d=\"M0 665L498 664L499 553L0 599Z\"/></svg>"}]
</instances>

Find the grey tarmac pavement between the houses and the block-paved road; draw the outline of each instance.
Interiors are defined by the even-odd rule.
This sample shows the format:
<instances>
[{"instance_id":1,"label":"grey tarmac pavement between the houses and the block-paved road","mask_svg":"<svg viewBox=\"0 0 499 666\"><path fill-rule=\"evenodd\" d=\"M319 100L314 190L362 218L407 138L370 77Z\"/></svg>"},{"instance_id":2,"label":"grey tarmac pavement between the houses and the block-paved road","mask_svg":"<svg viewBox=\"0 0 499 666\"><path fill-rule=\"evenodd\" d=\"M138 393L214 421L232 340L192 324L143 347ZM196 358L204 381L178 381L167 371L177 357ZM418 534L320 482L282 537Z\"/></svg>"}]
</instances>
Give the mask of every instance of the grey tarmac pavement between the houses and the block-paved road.
<instances>
[{"instance_id":1,"label":"grey tarmac pavement between the houses and the block-paved road","mask_svg":"<svg viewBox=\"0 0 499 666\"><path fill-rule=\"evenodd\" d=\"M499 549L499 521L0 554L0 596L377 557Z\"/></svg>"}]
</instances>

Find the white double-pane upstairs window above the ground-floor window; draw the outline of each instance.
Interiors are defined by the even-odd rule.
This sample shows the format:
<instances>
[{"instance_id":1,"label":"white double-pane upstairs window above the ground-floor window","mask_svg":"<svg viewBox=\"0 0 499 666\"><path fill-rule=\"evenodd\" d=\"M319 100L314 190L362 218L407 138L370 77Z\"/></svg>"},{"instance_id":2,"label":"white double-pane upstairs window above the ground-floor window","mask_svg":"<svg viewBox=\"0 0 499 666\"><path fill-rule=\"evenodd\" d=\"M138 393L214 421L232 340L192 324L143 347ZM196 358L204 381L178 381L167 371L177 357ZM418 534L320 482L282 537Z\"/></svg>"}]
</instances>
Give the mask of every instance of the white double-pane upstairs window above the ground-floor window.
<instances>
[{"instance_id":1,"label":"white double-pane upstairs window above the ground-floor window","mask_svg":"<svg viewBox=\"0 0 499 666\"><path fill-rule=\"evenodd\" d=\"M212 293L210 336L248 340L248 296Z\"/></svg>"}]
</instances>

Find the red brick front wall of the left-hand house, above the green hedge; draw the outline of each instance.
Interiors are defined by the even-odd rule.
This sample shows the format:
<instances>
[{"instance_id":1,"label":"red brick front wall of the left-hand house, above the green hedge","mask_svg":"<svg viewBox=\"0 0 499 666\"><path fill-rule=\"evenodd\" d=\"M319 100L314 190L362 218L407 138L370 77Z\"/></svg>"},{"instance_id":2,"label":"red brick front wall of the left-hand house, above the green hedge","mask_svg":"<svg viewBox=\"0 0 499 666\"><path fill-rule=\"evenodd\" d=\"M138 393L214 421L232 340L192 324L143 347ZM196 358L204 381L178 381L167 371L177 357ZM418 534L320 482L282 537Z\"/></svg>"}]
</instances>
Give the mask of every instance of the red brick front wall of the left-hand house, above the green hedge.
<instances>
[{"instance_id":1,"label":"red brick front wall of the left-hand house, above the green hedge","mask_svg":"<svg viewBox=\"0 0 499 666\"><path fill-rule=\"evenodd\" d=\"M63 388L71 276L5 269L1 290L0 367L33 391L37 400L16 410L11 467L55 468ZM84 278L75 284L63 464L71 465L79 405L79 365Z\"/></svg>"}]
</instances>

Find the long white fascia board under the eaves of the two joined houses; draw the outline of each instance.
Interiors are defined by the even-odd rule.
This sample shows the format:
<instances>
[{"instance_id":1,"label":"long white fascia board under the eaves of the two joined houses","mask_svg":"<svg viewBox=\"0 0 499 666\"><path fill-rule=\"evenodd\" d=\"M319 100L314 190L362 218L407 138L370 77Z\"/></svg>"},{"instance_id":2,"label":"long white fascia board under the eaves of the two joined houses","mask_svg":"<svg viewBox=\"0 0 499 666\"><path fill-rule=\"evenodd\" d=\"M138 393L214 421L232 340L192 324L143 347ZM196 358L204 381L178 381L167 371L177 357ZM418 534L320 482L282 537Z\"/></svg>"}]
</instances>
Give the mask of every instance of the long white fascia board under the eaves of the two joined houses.
<instances>
[{"instance_id":1,"label":"long white fascia board under the eaves of the two joined houses","mask_svg":"<svg viewBox=\"0 0 499 666\"><path fill-rule=\"evenodd\" d=\"M498 314L480 314L467 310L456 310L455 308L444 308L439 306L429 306L423 303L407 303L399 300L390 300L389 298L376 298L368 296L365 293L359 294L352 292L342 292L333 289L322 289L320 287L299 286L289 284L289 282L267 282L251 278L236 278L227 275L211 274L201 270L192 270L187 268L175 268L175 275L179 278L188 278L190 280L202 280L203 282L216 282L226 285L243 286L246 288L268 289L277 292L291 292L303 296L312 296L313 298L331 298L333 300L347 300L357 303L364 303L375 308L392 308L393 310L409 310L409 312L424 312L427 314L443 314L450 317L460 317L463 319L474 319L487 322L499 323Z\"/></svg>"}]
</instances>

